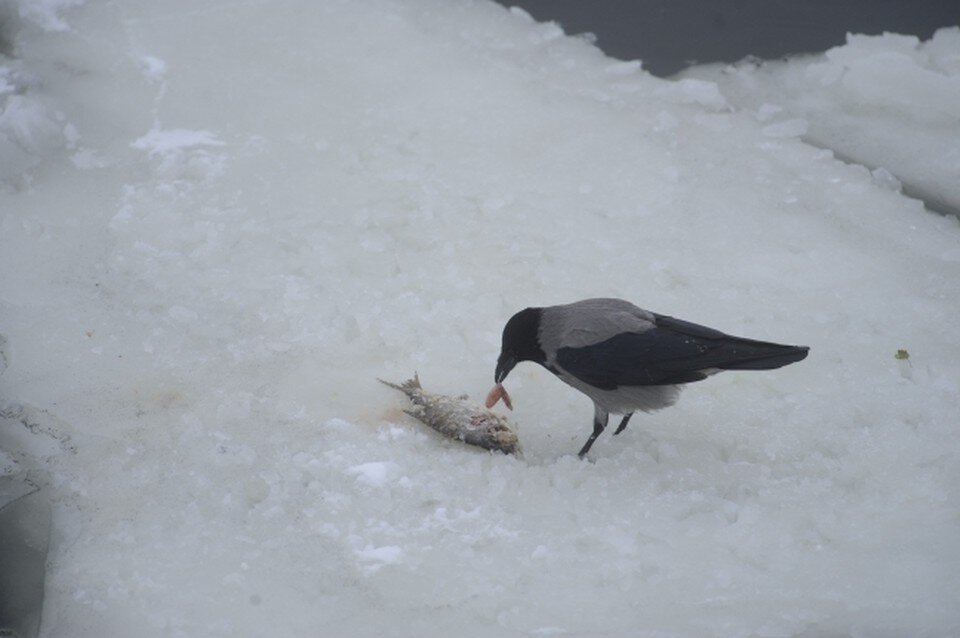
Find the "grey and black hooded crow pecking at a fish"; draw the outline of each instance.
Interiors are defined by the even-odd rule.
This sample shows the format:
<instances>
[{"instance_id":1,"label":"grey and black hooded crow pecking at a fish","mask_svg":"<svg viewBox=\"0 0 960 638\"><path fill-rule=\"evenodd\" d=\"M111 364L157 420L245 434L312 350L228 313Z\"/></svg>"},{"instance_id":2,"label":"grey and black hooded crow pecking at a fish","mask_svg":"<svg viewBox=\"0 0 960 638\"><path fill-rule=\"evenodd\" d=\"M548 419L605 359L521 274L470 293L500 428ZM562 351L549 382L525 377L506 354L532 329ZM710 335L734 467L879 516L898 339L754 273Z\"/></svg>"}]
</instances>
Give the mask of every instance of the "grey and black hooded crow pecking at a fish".
<instances>
[{"instance_id":1,"label":"grey and black hooded crow pecking at a fish","mask_svg":"<svg viewBox=\"0 0 960 638\"><path fill-rule=\"evenodd\" d=\"M676 403L684 383L722 370L780 368L808 350L732 337L622 299L585 299L526 308L511 317L494 380L496 389L517 363L534 361L590 397L593 434L579 452L583 458L611 413L623 415L614 431L620 434L635 411Z\"/></svg>"}]
</instances>

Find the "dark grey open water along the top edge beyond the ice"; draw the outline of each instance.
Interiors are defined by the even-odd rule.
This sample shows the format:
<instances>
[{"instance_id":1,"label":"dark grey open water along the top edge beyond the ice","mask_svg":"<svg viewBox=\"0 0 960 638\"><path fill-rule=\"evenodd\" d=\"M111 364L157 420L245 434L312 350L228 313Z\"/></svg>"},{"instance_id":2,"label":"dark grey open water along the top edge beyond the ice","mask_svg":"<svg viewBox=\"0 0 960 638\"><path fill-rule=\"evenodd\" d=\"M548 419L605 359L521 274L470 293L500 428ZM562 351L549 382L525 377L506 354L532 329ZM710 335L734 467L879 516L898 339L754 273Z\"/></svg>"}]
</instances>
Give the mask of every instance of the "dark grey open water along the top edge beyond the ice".
<instances>
[{"instance_id":1,"label":"dark grey open water along the top edge beyond the ice","mask_svg":"<svg viewBox=\"0 0 960 638\"><path fill-rule=\"evenodd\" d=\"M590 32L607 55L665 77L697 62L818 53L846 34L928 39L960 24L960 0L497 0L568 34Z\"/></svg>"}]
</instances>

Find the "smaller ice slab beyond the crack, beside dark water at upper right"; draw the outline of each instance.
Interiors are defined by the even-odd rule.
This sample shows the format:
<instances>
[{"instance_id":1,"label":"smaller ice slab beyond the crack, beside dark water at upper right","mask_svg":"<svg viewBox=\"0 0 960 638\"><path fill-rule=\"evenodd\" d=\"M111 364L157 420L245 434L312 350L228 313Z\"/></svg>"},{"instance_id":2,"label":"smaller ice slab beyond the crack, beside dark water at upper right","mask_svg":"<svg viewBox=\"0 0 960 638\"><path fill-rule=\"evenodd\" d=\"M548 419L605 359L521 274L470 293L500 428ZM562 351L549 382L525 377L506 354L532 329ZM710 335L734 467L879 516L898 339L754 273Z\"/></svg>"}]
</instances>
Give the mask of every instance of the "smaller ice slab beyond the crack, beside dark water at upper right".
<instances>
[{"instance_id":1,"label":"smaller ice slab beyond the crack, beside dark water at upper right","mask_svg":"<svg viewBox=\"0 0 960 638\"><path fill-rule=\"evenodd\" d=\"M882 169L908 194L960 215L958 26L926 42L849 34L823 54L703 65L680 77L716 82L736 108L775 122L768 128L793 123L795 135Z\"/></svg>"}]
</instances>

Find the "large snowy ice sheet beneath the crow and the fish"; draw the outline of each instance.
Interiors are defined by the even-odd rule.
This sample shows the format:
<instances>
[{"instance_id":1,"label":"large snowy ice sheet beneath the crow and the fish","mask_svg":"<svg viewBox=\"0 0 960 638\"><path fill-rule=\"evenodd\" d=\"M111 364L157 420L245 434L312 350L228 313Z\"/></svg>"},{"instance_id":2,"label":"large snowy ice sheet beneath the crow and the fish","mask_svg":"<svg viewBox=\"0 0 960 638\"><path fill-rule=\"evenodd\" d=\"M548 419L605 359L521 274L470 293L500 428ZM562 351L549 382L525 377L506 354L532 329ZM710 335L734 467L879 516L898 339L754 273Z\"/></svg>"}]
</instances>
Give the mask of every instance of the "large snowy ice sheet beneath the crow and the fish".
<instances>
[{"instance_id":1,"label":"large snowy ice sheet beneath the crow and the fish","mask_svg":"<svg viewBox=\"0 0 960 638\"><path fill-rule=\"evenodd\" d=\"M41 635L960 633L956 218L492 3L20 7L0 447L53 504ZM534 365L523 458L375 380L482 397L513 312L596 295L811 354L591 462Z\"/></svg>"}]
</instances>

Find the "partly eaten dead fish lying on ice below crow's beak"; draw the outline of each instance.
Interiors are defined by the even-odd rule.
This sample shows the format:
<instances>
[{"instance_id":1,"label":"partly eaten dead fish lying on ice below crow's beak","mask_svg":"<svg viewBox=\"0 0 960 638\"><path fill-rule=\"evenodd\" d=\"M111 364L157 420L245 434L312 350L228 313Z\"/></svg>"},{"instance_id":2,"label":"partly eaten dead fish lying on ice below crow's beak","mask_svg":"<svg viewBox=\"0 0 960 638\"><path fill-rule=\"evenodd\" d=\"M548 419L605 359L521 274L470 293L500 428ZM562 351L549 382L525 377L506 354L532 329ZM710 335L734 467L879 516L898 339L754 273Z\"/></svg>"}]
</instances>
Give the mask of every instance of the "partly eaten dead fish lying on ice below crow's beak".
<instances>
[{"instance_id":1,"label":"partly eaten dead fish lying on ice below crow's beak","mask_svg":"<svg viewBox=\"0 0 960 638\"><path fill-rule=\"evenodd\" d=\"M407 395L413 408L404 412L444 436L504 454L517 454L520 451L520 441L510 422L467 401L466 397L454 399L426 392L420 386L420 377L417 375L399 385L383 379L377 381Z\"/></svg>"}]
</instances>

